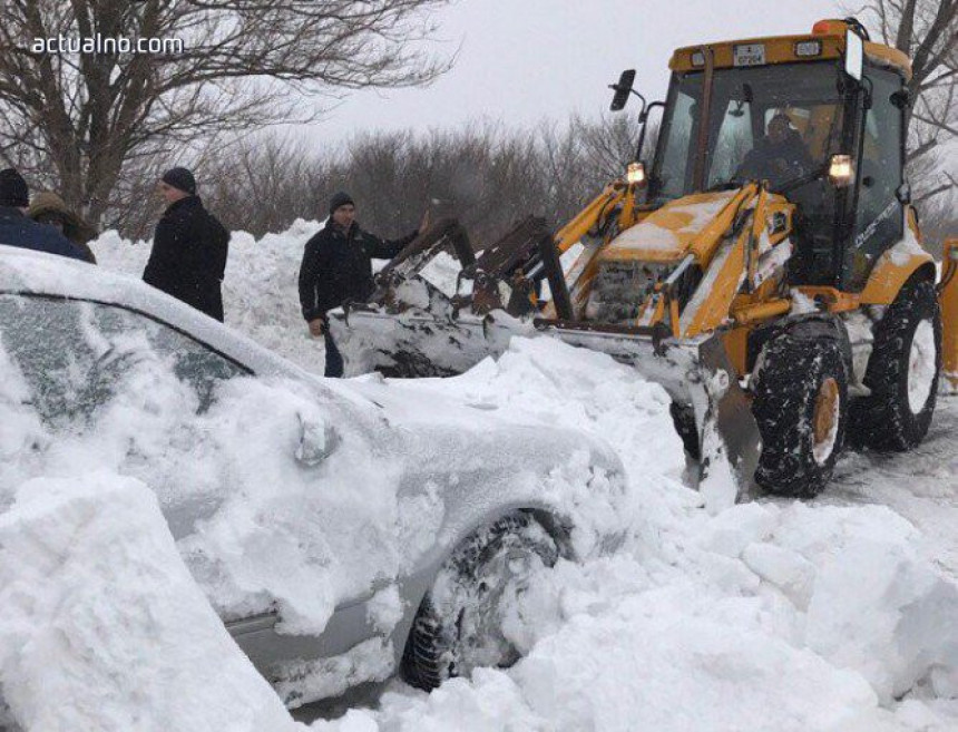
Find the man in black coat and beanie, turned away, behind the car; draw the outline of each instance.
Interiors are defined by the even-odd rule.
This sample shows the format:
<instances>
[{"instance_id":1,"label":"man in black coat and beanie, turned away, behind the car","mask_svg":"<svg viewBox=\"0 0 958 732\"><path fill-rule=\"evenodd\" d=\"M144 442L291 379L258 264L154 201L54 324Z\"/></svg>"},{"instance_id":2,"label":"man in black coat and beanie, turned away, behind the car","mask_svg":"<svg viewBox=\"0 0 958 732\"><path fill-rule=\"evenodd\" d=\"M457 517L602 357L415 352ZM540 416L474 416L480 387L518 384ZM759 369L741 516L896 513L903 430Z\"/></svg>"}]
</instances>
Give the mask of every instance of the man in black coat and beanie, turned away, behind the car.
<instances>
[{"instance_id":1,"label":"man in black coat and beanie, turned away, behind the car","mask_svg":"<svg viewBox=\"0 0 958 732\"><path fill-rule=\"evenodd\" d=\"M223 322L219 285L229 233L203 207L186 168L164 173L159 192L169 205L156 225L143 281Z\"/></svg>"}]
</instances>

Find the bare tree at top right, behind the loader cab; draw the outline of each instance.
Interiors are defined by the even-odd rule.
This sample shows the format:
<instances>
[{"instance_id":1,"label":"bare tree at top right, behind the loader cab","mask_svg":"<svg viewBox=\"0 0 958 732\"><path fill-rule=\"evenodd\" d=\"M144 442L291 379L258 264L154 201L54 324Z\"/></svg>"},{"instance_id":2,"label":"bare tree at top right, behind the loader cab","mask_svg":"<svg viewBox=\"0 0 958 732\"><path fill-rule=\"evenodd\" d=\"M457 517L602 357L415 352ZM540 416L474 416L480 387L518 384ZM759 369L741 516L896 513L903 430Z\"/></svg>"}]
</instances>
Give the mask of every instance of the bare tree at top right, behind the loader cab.
<instances>
[{"instance_id":1,"label":"bare tree at top right, behind the loader cab","mask_svg":"<svg viewBox=\"0 0 958 732\"><path fill-rule=\"evenodd\" d=\"M944 148L958 139L958 0L868 0L864 8L879 39L911 59L908 141L916 202L954 192L958 180Z\"/></svg>"}]
</instances>

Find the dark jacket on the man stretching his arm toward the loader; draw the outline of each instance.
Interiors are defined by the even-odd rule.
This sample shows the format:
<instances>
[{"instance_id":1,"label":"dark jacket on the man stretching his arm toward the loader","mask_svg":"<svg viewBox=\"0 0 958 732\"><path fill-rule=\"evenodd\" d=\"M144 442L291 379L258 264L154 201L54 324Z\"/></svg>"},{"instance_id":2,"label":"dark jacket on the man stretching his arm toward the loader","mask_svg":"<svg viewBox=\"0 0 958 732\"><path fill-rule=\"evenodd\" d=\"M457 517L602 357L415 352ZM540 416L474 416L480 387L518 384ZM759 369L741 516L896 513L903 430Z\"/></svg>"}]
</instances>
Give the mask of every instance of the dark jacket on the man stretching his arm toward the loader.
<instances>
[{"instance_id":1,"label":"dark jacket on the man stretching his arm toward the loader","mask_svg":"<svg viewBox=\"0 0 958 732\"><path fill-rule=\"evenodd\" d=\"M343 232L330 218L309 242L300 266L300 304L307 321L325 318L326 311L346 301L368 300L375 285L370 260L390 260L416 238L384 241L364 232L353 222Z\"/></svg>"}]
</instances>

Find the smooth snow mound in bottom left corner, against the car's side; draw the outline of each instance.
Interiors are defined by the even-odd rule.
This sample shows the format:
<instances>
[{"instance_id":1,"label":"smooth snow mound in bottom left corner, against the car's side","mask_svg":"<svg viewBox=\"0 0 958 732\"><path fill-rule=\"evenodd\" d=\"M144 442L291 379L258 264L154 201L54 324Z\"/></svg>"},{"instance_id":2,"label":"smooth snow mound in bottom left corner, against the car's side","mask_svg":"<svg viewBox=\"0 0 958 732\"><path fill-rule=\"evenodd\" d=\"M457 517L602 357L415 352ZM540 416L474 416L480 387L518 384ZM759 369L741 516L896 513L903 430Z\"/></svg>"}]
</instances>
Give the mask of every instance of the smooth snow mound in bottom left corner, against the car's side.
<instances>
[{"instance_id":1,"label":"smooth snow mound in bottom left corner, against the car's side","mask_svg":"<svg viewBox=\"0 0 958 732\"><path fill-rule=\"evenodd\" d=\"M302 729L135 479L25 484L0 514L0 690L26 730Z\"/></svg>"}]
</instances>

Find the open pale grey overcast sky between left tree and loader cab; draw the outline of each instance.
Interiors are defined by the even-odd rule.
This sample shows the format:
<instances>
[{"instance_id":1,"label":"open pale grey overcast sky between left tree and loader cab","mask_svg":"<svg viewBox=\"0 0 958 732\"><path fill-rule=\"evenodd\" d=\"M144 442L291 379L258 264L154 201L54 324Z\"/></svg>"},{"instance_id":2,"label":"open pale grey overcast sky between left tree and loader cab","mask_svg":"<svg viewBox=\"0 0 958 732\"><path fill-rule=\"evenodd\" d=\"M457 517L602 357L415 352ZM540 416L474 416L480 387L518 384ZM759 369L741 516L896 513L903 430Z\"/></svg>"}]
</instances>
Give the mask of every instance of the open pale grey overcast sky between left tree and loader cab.
<instances>
[{"instance_id":1,"label":"open pale grey overcast sky between left tree and loader cab","mask_svg":"<svg viewBox=\"0 0 958 732\"><path fill-rule=\"evenodd\" d=\"M665 94L675 48L810 32L843 14L834 0L457 0L437 13L436 50L461 43L449 74L423 89L355 92L310 137L335 145L362 131L598 117L623 69L637 69L635 88L652 101Z\"/></svg>"}]
</instances>

